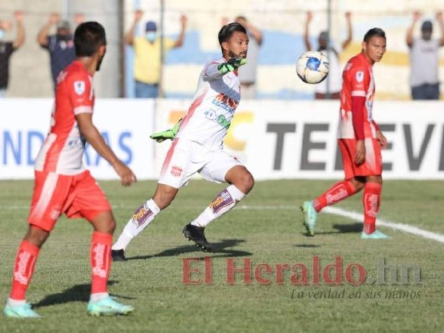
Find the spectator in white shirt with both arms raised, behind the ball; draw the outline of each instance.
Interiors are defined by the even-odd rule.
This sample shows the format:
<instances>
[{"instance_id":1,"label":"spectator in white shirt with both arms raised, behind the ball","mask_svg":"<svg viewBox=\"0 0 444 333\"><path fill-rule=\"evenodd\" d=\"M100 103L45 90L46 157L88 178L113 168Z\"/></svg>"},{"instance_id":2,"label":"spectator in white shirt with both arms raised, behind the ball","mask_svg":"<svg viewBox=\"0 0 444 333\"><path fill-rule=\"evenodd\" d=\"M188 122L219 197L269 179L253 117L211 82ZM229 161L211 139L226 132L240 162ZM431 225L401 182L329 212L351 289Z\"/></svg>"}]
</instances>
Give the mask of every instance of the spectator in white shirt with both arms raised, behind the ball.
<instances>
[{"instance_id":1,"label":"spectator in white shirt with both arms raised, behind the ball","mask_svg":"<svg viewBox=\"0 0 444 333\"><path fill-rule=\"evenodd\" d=\"M312 44L310 43L309 40L309 29L308 29L312 18L313 18L312 13L307 12L307 21L305 23L305 35L304 35L304 42L307 51L313 50ZM341 48L334 47L334 45L331 44L330 40L330 46L329 46L330 56L328 59L328 61L330 62L330 72L325 80L315 85L315 99L317 100L323 100L327 98L327 79L329 80L328 90L330 93L330 99L333 100L339 99L339 92L341 91L341 85L342 85L342 71L341 71L341 64L339 62L339 54L352 41L352 22L351 22L350 12L345 13L345 19L347 21L347 38L342 42ZM327 43L328 43L328 33L326 31L323 31L319 34L318 37L318 51L324 51L326 53Z\"/></svg>"}]
</instances>

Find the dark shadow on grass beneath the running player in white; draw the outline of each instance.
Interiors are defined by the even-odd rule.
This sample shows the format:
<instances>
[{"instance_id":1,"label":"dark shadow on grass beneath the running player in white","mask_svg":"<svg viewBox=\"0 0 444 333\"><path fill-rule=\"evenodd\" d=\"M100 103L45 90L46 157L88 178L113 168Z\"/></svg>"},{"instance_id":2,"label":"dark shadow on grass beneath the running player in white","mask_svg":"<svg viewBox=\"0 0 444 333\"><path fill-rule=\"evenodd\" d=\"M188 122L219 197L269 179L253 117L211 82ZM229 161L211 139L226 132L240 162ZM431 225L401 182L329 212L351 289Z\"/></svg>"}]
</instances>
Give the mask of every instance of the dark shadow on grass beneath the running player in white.
<instances>
[{"instance_id":1,"label":"dark shadow on grass beneath the running player in white","mask_svg":"<svg viewBox=\"0 0 444 333\"><path fill-rule=\"evenodd\" d=\"M212 251L208 252L207 255L211 256L211 254L216 254L211 256L212 258L226 258L226 257L246 257L252 256L250 252L242 251L242 250L228 250L227 248L231 248L237 246L241 243L244 243L244 239L222 239L220 242L211 243ZM164 250L156 255L152 256L135 256L126 258L126 260L144 260L151 259L157 257L173 257L182 254L192 253L192 252L201 252L199 248L194 245L181 245L175 247L173 249Z\"/></svg>"}]
</instances>

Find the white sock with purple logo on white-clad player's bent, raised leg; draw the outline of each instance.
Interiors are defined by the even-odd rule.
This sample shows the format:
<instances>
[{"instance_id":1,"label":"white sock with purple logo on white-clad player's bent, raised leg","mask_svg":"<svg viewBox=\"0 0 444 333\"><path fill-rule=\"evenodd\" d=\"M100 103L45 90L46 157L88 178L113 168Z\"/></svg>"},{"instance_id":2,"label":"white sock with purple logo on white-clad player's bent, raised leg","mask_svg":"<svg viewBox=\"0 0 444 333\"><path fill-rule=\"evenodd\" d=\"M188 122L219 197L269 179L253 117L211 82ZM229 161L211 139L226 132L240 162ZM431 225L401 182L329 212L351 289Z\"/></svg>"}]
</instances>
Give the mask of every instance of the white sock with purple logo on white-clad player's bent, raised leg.
<instances>
[{"instance_id":1,"label":"white sock with purple logo on white-clad player's bent, raised leg","mask_svg":"<svg viewBox=\"0 0 444 333\"><path fill-rule=\"evenodd\" d=\"M209 222L227 213L243 199L243 194L235 185L230 185L220 192L208 207L191 222L192 225L205 227Z\"/></svg>"}]
</instances>

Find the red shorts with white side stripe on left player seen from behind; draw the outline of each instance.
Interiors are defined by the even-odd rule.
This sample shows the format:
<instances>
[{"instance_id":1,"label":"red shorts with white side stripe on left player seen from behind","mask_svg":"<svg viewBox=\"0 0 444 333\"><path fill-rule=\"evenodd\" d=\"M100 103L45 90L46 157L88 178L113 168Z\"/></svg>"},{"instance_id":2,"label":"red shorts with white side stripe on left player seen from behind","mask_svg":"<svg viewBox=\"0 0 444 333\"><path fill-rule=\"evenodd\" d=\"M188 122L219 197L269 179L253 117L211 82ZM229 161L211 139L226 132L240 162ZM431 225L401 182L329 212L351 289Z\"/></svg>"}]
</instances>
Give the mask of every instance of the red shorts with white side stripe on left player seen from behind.
<instances>
[{"instance_id":1,"label":"red shorts with white side stripe on left player seen from behind","mask_svg":"<svg viewBox=\"0 0 444 333\"><path fill-rule=\"evenodd\" d=\"M92 221L97 214L111 211L105 193L89 171L74 176L36 171L35 175L29 224L51 231L62 213Z\"/></svg>"}]
</instances>

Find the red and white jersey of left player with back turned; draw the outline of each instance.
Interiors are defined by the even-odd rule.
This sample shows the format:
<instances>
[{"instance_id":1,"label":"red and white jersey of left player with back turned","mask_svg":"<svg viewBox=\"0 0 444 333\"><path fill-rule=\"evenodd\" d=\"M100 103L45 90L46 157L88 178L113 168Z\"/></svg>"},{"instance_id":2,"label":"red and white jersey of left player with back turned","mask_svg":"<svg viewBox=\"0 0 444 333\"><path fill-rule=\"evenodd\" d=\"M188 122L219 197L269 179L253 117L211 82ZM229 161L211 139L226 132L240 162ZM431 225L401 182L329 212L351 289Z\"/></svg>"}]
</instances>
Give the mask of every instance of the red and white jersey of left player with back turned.
<instances>
[{"instance_id":1,"label":"red and white jersey of left player with back turned","mask_svg":"<svg viewBox=\"0 0 444 333\"><path fill-rule=\"evenodd\" d=\"M81 137L76 114L92 113L92 76L74 61L57 77L51 127L36 159L37 171L77 175L85 170L82 162L85 140Z\"/></svg>"}]
</instances>

